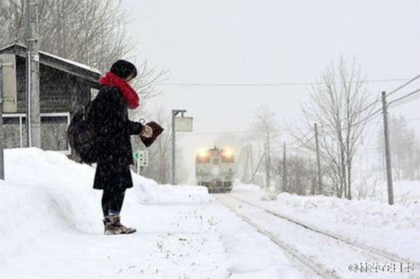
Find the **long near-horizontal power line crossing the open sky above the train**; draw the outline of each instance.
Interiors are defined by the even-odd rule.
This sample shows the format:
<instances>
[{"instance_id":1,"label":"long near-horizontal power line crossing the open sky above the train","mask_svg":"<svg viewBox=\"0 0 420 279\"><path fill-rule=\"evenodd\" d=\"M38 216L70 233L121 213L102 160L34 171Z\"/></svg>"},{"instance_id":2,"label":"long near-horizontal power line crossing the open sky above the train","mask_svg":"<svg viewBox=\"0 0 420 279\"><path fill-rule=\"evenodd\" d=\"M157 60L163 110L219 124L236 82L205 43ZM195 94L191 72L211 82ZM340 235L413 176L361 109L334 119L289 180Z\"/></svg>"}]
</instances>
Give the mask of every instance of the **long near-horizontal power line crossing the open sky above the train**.
<instances>
[{"instance_id":1,"label":"long near-horizontal power line crossing the open sky above the train","mask_svg":"<svg viewBox=\"0 0 420 279\"><path fill-rule=\"evenodd\" d=\"M366 80L369 82L392 82L392 81L406 81L408 79L372 79ZM353 81L355 83L358 81ZM410 81L411 82L411 81ZM340 83L340 82L336 82ZM323 82L279 82L279 83L160 83L163 86L185 86L185 87L276 87L276 86L306 86L323 84Z\"/></svg>"}]
</instances>

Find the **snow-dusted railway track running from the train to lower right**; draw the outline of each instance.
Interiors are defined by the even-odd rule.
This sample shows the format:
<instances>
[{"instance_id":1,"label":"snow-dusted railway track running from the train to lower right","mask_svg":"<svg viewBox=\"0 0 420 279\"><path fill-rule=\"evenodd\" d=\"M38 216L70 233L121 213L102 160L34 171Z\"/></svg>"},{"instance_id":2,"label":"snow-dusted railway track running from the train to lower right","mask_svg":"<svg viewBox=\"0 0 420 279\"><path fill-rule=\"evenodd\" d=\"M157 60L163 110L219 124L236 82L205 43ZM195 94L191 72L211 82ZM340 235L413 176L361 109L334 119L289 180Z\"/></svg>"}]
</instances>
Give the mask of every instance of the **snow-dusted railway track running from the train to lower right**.
<instances>
[{"instance_id":1,"label":"snow-dusted railway track running from the train to lower right","mask_svg":"<svg viewBox=\"0 0 420 279\"><path fill-rule=\"evenodd\" d=\"M316 235L321 235L322 237L329 239L330 243L332 242L339 242L342 244L342 247L347 247L347 248L343 248L345 249L349 249L352 250L353 253L356 254L361 254L363 255L363 257L368 257L368 259L372 259L373 261L376 262L401 262L401 263L412 263L414 265L414 269L415 271L411 272L418 272L418 270L420 269L420 263L418 262L413 262L412 260L403 258L399 255L395 255L393 253L387 252L387 251L383 251L374 247L370 247L368 245L365 245L363 243L351 240L349 238L343 237L343 236L339 236L337 234L334 234L332 232L328 232L325 230L322 230L320 228L317 228L316 226L313 225L309 225L309 224L305 224L304 222L300 221L300 220L296 220L293 219L289 216L285 216L282 215L278 212L266 209L260 205L251 203L247 200L241 199L239 197L236 197L232 194L221 194L221 195L215 195L215 197L225 206L227 206L231 211L233 211L236 215L238 215L241 219L243 219L244 221L246 221L249 225L253 226L258 232L266 235L267 237L269 237L275 244L277 244L278 246L280 246L287 254L289 254L293 259L297 259L301 265L304 266L304 268L306 268L307 270L309 269L310 271L316 273L318 276L322 277L322 278L326 278L326 279L339 279L339 278L348 278L347 276L343 277L343 272L338 272L335 268L331 268L328 265L324 264L322 261L316 259L315 257L311 256L311 255L306 255L305 252L300 251L300 249L298 249L296 247L296 245L291 245L289 241L285 241L283 238L276 236L276 234L271 231L271 230L267 230L262 228L262 226L260 226L258 224L258 220L256 221L253 218L250 218L249 216L239 212L239 210L237 210L237 208L235 208L235 203L237 205L237 207L241 207L242 205L246 205L246 206L250 206L253 208L256 208L258 210L261 210L262 212L271 215L273 218L275 219L281 219L284 222L287 222L288 224L293 224L296 226L299 226L300 228L303 228L305 230L305 232L311 232L312 234L316 234ZM230 201L229 201L230 199ZM234 202L232 202L234 201ZM362 258L362 257L361 257ZM348 272L348 275L351 275L351 278L357 278L354 275L356 274L352 274L351 272ZM365 274L364 278L368 278L370 276L366 276L369 273ZM417 273L418 274L418 273ZM379 275L379 274L376 274ZM385 275L385 274L382 274ZM387 274L390 275L390 274ZM403 274L401 274L403 275ZM407 274L406 274L407 275ZM409 274L408 274L409 275ZM385 278L388 276L380 276L381 278ZM413 277L413 276L408 276L408 277ZM377 278L377 277L376 277ZM396 277L396 278L402 278L402 277ZM414 277L413 277L414 278Z\"/></svg>"}]
</instances>

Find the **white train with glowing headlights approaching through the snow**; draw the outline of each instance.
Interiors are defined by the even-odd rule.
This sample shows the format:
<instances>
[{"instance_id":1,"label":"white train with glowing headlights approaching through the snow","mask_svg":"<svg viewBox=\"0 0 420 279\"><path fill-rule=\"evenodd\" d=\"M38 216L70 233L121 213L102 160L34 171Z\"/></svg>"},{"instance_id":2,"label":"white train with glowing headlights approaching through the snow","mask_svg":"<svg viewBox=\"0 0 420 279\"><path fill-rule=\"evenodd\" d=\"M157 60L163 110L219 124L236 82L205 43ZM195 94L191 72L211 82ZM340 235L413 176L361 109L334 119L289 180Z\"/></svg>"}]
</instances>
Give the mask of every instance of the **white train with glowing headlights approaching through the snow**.
<instances>
[{"instance_id":1,"label":"white train with glowing headlights approaching through the snow","mask_svg":"<svg viewBox=\"0 0 420 279\"><path fill-rule=\"evenodd\" d=\"M235 173L235 155L230 148L203 150L195 159L195 177L198 185L205 186L209 193L232 190Z\"/></svg>"}]
</instances>

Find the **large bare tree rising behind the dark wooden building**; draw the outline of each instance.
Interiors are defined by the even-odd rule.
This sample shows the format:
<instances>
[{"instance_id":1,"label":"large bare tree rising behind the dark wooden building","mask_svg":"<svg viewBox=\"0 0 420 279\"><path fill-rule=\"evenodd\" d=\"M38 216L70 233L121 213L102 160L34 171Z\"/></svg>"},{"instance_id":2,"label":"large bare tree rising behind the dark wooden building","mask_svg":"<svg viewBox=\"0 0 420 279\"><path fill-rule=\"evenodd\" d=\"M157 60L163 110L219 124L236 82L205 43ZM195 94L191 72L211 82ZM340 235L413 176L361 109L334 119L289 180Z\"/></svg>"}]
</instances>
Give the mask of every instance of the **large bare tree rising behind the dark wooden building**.
<instances>
[{"instance_id":1,"label":"large bare tree rising behind the dark wooden building","mask_svg":"<svg viewBox=\"0 0 420 279\"><path fill-rule=\"evenodd\" d=\"M126 26L131 16L120 0L38 0L40 49L106 72L118 59L127 58L134 41ZM0 2L0 46L25 44L25 0ZM139 64L135 86L145 100L156 89L165 71Z\"/></svg>"}]
</instances>

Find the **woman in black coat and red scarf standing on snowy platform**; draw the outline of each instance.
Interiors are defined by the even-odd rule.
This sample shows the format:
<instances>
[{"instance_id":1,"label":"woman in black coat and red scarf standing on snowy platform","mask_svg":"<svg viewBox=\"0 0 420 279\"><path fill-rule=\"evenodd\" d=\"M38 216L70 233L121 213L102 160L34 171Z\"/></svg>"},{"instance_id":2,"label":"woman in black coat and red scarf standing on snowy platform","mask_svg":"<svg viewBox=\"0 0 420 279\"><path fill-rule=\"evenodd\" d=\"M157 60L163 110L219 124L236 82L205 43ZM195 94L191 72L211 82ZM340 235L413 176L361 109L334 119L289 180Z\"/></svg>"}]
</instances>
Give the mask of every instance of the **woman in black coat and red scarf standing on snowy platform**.
<instances>
[{"instance_id":1,"label":"woman in black coat and red scarf standing on snowy platform","mask_svg":"<svg viewBox=\"0 0 420 279\"><path fill-rule=\"evenodd\" d=\"M119 212L125 190L133 187L130 164L134 164L130 135L151 137L153 130L128 119L128 108L139 106L140 98L130 85L137 76L136 67L124 60L115 62L92 103L92 122L97 134L99 159L93 188L103 190L104 233L131 234L133 228L121 225Z\"/></svg>"}]
</instances>

